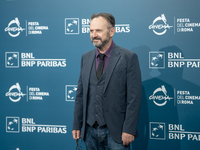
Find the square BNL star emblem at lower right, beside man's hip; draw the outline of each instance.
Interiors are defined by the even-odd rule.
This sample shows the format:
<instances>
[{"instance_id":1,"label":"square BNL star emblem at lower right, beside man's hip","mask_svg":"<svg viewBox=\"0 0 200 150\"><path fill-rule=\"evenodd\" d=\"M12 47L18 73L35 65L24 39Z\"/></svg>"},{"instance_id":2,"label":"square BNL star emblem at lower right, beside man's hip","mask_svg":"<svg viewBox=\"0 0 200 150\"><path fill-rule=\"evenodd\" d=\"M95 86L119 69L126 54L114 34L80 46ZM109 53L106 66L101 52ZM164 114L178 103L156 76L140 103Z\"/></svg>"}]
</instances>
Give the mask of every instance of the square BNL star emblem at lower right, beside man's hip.
<instances>
[{"instance_id":1,"label":"square BNL star emblem at lower right, beside man's hip","mask_svg":"<svg viewBox=\"0 0 200 150\"><path fill-rule=\"evenodd\" d=\"M150 122L149 123L150 139L165 140L165 123Z\"/></svg>"}]
</instances>

